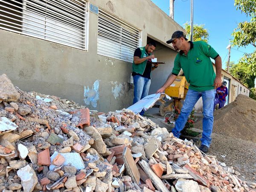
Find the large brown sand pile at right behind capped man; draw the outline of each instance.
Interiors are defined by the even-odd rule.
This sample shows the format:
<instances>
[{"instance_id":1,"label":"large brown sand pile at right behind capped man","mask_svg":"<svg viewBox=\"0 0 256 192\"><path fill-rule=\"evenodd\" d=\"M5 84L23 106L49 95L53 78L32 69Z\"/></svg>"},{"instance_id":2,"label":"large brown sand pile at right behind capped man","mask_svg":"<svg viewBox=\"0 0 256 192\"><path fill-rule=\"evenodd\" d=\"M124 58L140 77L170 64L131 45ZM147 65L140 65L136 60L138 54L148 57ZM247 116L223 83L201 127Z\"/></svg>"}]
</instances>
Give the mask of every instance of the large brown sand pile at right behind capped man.
<instances>
[{"instance_id":1,"label":"large brown sand pile at right behind capped man","mask_svg":"<svg viewBox=\"0 0 256 192\"><path fill-rule=\"evenodd\" d=\"M202 128L202 121L195 123ZM214 112L213 132L256 143L256 101L242 94Z\"/></svg>"}]
</instances>

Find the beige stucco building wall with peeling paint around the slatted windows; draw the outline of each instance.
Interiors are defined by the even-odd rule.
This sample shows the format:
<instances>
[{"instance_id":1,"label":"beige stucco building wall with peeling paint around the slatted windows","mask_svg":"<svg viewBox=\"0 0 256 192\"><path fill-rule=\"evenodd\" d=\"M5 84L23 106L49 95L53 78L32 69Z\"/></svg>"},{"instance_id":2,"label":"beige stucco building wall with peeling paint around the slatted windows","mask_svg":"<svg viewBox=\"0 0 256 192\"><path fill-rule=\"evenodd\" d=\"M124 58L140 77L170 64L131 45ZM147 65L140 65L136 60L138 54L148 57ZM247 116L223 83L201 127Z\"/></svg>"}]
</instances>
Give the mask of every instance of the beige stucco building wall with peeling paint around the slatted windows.
<instances>
[{"instance_id":1,"label":"beige stucco building wall with peeling paint around the slatted windows","mask_svg":"<svg viewBox=\"0 0 256 192\"><path fill-rule=\"evenodd\" d=\"M91 0L96 6L142 30L142 45L147 36L160 43L183 30L150 0ZM97 55L98 15L89 12L88 51L19 35L0 29L0 73L6 73L21 90L72 99L84 104L84 88L99 82L99 100L94 108L113 111L131 105L129 84L131 63ZM169 49L169 48L168 48ZM170 57L177 54L169 49ZM160 70L159 72L160 73ZM162 79L161 79L162 78ZM160 81L165 81L166 76Z\"/></svg>"}]
</instances>

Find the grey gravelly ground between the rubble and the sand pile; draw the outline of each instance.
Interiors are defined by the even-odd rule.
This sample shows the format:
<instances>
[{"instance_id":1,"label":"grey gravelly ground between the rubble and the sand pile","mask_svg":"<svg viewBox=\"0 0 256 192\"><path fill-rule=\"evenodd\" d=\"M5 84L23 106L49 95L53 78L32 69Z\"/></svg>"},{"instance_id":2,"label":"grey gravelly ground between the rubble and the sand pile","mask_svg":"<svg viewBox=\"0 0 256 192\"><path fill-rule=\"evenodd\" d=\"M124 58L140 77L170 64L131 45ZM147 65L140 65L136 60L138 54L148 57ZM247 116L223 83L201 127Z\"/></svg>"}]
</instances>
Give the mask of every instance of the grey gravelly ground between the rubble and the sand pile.
<instances>
[{"instance_id":1,"label":"grey gravelly ground between the rubble and the sand pile","mask_svg":"<svg viewBox=\"0 0 256 192\"><path fill-rule=\"evenodd\" d=\"M172 130L173 127L159 116L158 108L151 108L146 114L160 127ZM203 117L201 113L195 113L195 116L198 121ZM216 156L218 161L224 162L227 166L233 166L233 169L241 174L241 180L256 183L256 143L213 133L208 154Z\"/></svg>"}]
</instances>

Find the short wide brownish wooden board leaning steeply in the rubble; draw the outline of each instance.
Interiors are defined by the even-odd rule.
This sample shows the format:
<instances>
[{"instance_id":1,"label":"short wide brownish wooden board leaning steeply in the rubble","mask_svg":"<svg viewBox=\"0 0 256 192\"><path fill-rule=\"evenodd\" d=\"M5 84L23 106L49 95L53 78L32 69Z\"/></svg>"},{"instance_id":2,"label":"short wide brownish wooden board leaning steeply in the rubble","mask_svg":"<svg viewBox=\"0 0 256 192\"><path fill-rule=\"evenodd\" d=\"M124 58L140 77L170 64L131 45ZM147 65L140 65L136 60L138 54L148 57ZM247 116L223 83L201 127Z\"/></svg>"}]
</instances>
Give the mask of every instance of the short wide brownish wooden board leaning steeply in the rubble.
<instances>
[{"instance_id":1,"label":"short wide brownish wooden board leaning steeply in the rubble","mask_svg":"<svg viewBox=\"0 0 256 192\"><path fill-rule=\"evenodd\" d=\"M123 152L123 160L125 162L125 168L128 175L139 185L140 183L140 172L134 162L134 158L131 155L131 151L128 147L125 147Z\"/></svg>"}]
</instances>

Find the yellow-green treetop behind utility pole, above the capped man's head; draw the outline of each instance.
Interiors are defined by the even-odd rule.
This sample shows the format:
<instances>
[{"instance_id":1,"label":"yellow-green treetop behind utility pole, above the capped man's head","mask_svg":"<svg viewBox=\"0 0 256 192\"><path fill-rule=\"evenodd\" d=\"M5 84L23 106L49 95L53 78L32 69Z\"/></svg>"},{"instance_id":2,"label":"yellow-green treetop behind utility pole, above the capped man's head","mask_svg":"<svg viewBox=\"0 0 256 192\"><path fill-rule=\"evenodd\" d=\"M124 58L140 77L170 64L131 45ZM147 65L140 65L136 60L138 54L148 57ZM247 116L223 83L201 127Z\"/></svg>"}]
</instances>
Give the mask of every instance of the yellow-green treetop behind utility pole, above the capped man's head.
<instances>
[{"instance_id":1,"label":"yellow-green treetop behind utility pole, above the capped man's head","mask_svg":"<svg viewBox=\"0 0 256 192\"><path fill-rule=\"evenodd\" d=\"M185 30L187 32L187 38L190 39L190 25L189 23L184 24ZM205 41L208 43L209 33L204 25L194 25L193 26L193 41Z\"/></svg>"}]
</instances>

